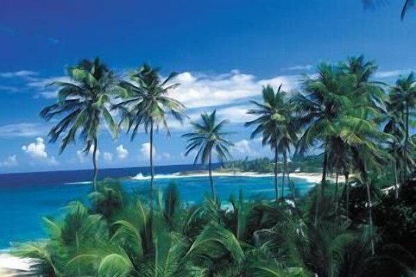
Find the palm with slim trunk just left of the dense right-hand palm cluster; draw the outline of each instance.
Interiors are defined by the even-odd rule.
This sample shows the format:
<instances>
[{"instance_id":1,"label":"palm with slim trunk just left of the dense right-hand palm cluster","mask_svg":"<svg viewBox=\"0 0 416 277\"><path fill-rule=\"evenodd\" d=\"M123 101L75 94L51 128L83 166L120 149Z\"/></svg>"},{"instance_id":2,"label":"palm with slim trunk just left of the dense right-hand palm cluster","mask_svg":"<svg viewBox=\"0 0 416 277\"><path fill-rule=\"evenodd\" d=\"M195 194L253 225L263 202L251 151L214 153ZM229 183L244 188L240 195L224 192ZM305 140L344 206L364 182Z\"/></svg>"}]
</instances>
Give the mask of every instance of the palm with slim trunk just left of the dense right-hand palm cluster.
<instances>
[{"instance_id":1,"label":"palm with slim trunk just left of the dense right-hand palm cluster","mask_svg":"<svg viewBox=\"0 0 416 277\"><path fill-rule=\"evenodd\" d=\"M255 120L246 122L244 126L256 126L251 133L251 138L262 136L262 145L269 145L274 150L274 175L275 175L275 201L279 200L278 183L278 154L279 140L282 136L282 129L285 129L285 120L289 114L288 105L285 102L286 93L282 90L282 85L275 92L271 86L265 86L262 90L263 102L250 101L256 109L250 109L247 113L257 116ZM287 130L286 130L287 131ZM293 135L293 134L291 134ZM287 136L292 139L292 136ZM286 141L288 143L288 141ZM282 142L281 148L284 149Z\"/></svg>"}]
</instances>

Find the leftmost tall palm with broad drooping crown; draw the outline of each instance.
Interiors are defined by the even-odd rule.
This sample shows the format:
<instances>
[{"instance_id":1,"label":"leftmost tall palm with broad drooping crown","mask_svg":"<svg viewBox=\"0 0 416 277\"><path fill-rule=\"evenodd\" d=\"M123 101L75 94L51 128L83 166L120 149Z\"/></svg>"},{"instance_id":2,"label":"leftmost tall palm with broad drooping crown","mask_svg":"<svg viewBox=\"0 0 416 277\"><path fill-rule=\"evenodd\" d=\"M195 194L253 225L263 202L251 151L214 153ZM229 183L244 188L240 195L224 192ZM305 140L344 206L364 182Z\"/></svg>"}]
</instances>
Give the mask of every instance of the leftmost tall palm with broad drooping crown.
<instances>
[{"instance_id":1,"label":"leftmost tall palm with broad drooping crown","mask_svg":"<svg viewBox=\"0 0 416 277\"><path fill-rule=\"evenodd\" d=\"M56 104L42 109L40 116L47 121L60 117L49 132L50 142L56 142L60 137L60 153L68 144L74 143L77 133L84 144L83 152L88 154L93 148L93 185L97 182L97 148L99 127L103 122L117 136L117 126L109 111L111 97L117 93L118 80L113 72L101 61L83 60L78 65L69 68L69 81L54 81L51 85L58 86L58 101Z\"/></svg>"}]
</instances>

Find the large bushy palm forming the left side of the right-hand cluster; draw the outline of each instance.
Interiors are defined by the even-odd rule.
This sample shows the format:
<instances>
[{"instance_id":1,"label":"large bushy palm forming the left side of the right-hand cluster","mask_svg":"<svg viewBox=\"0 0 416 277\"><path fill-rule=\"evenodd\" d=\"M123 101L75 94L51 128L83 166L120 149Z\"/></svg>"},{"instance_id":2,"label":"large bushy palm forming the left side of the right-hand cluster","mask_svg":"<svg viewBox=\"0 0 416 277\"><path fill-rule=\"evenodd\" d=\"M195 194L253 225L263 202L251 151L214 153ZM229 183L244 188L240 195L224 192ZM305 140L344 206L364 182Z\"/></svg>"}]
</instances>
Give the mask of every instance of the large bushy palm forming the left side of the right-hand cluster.
<instances>
[{"instance_id":1,"label":"large bushy palm forming the left side of the right-hand cluster","mask_svg":"<svg viewBox=\"0 0 416 277\"><path fill-rule=\"evenodd\" d=\"M317 77L303 82L303 92L294 95L292 101L299 114L299 122L305 131L298 140L296 152L303 155L318 142L323 149L321 196L324 195L328 157L331 152L331 139L339 136L337 122L346 109L351 106L349 91L352 90L353 77L341 68L322 63L317 68ZM319 197L319 194L317 194ZM315 205L315 222L318 223L319 200Z\"/></svg>"}]
</instances>

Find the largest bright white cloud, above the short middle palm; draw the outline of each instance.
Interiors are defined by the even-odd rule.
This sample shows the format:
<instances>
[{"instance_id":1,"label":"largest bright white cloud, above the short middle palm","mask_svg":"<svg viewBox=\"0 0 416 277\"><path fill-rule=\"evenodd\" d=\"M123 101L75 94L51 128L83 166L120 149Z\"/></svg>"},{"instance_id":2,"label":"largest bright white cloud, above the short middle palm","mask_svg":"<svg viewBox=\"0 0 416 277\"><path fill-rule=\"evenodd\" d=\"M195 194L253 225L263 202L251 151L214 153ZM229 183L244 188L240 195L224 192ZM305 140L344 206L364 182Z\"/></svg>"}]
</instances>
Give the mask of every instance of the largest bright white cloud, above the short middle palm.
<instances>
[{"instance_id":1,"label":"largest bright white cloud, above the short middle palm","mask_svg":"<svg viewBox=\"0 0 416 277\"><path fill-rule=\"evenodd\" d=\"M271 79L258 79L252 74L233 70L227 74L192 74L183 72L175 81L181 85L170 92L170 97L182 102L187 108L220 106L232 104L246 97L262 93L262 86L282 84L285 90L297 86L298 75L276 76Z\"/></svg>"}]
</instances>

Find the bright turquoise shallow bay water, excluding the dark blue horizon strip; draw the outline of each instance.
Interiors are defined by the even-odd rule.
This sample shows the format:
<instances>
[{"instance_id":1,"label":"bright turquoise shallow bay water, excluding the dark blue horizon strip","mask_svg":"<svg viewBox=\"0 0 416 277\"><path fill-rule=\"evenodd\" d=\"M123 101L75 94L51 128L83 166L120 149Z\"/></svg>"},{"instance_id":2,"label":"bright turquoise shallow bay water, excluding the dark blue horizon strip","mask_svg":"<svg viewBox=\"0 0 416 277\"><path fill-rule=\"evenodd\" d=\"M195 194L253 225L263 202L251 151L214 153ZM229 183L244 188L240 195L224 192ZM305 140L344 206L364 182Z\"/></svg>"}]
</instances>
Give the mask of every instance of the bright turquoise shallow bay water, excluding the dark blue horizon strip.
<instances>
[{"instance_id":1,"label":"bright turquoise shallow bay water, excluding the dark blue horizon strip","mask_svg":"<svg viewBox=\"0 0 416 277\"><path fill-rule=\"evenodd\" d=\"M137 171L136 171L137 172ZM47 174L47 173L45 173ZM57 173L54 173L57 174ZM65 173L69 174L69 173ZM74 174L74 173L72 173ZM63 174L61 174L63 177ZM30 239L45 237L42 227L42 216L56 217L61 214L61 208L71 200L86 200L91 190L88 183L48 183L51 177L43 177L45 184L38 184L39 176L33 180L25 180L25 184L0 185L0 248L10 247L10 242L24 242ZM29 178L30 179L30 178ZM41 178L42 179L42 178ZM4 179L0 179L4 180ZM305 193L313 184L303 179L291 178L298 193ZM173 175L157 175L156 187L163 190L171 182L177 184L180 198L186 202L198 203L209 194L207 177L181 177ZM238 196L240 190L248 198L274 198L273 177L214 177L214 184L221 200L227 200L234 193ZM122 186L127 191L145 191L149 180L125 180ZM285 194L288 194L285 188Z\"/></svg>"}]
</instances>

